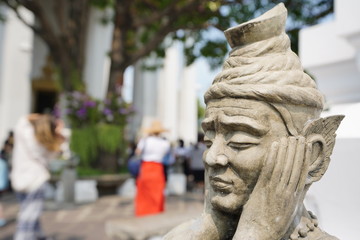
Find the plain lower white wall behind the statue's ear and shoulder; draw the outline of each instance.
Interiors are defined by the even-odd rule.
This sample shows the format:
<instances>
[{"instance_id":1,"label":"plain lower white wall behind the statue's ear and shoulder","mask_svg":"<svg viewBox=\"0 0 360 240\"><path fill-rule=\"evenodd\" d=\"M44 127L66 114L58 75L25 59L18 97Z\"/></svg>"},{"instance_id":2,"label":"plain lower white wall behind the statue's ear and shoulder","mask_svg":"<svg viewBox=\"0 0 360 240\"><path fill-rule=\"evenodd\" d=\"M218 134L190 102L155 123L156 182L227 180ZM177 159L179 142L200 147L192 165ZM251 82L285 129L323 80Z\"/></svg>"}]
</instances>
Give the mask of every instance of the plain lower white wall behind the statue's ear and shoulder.
<instances>
[{"instance_id":1,"label":"plain lower white wall behind the statue's ear and shoulder","mask_svg":"<svg viewBox=\"0 0 360 240\"><path fill-rule=\"evenodd\" d=\"M339 239L358 240L360 236L360 157L359 138L339 138L324 177L314 183L308 196L320 227Z\"/></svg>"}]
</instances>

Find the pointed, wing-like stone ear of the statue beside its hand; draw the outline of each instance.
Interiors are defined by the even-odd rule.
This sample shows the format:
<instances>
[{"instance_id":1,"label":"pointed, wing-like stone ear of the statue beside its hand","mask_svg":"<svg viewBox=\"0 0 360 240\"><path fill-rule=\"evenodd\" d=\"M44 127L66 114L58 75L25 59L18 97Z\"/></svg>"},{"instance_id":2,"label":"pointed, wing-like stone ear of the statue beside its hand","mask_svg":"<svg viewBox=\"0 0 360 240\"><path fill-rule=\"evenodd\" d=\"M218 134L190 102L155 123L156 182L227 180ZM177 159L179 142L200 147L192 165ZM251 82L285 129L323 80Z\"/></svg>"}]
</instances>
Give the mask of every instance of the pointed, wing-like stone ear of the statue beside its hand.
<instances>
[{"instance_id":1,"label":"pointed, wing-like stone ear of the statue beside its hand","mask_svg":"<svg viewBox=\"0 0 360 240\"><path fill-rule=\"evenodd\" d=\"M312 120L305 125L302 135L307 143L312 144L307 184L320 180L325 174L335 145L335 132L343 118L343 115L335 115Z\"/></svg>"}]
</instances>

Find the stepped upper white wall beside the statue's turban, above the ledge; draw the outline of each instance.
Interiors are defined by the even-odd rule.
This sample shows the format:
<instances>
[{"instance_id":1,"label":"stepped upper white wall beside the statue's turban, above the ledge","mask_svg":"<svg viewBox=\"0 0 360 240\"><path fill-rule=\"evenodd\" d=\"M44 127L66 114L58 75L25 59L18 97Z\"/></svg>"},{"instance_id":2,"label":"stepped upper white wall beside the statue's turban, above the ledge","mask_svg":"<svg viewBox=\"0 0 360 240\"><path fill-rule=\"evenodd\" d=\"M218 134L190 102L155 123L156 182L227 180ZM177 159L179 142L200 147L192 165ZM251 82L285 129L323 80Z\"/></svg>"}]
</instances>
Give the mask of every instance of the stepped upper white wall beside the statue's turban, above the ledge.
<instances>
[{"instance_id":1,"label":"stepped upper white wall beside the statue's turban, above the ledge","mask_svg":"<svg viewBox=\"0 0 360 240\"><path fill-rule=\"evenodd\" d=\"M360 101L360 1L335 1L334 21L300 32L300 57L329 105Z\"/></svg>"}]
</instances>

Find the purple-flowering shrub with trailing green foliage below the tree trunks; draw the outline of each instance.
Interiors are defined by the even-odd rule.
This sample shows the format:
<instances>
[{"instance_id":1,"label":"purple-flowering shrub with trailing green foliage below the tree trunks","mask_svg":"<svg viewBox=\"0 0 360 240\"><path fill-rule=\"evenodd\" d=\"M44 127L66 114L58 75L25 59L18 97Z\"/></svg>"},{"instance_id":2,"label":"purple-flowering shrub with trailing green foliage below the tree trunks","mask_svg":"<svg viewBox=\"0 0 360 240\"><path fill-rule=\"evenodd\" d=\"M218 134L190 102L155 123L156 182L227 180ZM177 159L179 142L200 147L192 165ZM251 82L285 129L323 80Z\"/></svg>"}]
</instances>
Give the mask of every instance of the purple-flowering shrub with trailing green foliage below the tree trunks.
<instances>
[{"instance_id":1,"label":"purple-flowering shrub with trailing green foliage below the tree trunks","mask_svg":"<svg viewBox=\"0 0 360 240\"><path fill-rule=\"evenodd\" d=\"M124 128L134 112L132 106L118 95L101 101L71 92L64 99L64 115L72 129L70 148L80 157L80 165L99 165L96 162L102 152L119 155L125 146Z\"/></svg>"}]
</instances>

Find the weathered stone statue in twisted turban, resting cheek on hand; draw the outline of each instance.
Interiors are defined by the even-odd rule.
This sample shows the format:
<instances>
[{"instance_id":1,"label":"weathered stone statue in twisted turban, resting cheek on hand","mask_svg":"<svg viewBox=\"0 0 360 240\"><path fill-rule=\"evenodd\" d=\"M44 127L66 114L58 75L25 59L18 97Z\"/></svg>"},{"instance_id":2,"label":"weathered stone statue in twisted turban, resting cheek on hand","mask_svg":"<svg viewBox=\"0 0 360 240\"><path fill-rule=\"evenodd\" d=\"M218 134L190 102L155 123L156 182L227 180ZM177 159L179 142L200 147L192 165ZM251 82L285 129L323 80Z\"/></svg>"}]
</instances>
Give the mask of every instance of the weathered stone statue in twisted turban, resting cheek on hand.
<instances>
[{"instance_id":1,"label":"weathered stone statue in twisted turban, resting cheek on hand","mask_svg":"<svg viewBox=\"0 0 360 240\"><path fill-rule=\"evenodd\" d=\"M343 116L319 118L323 96L290 49L286 17L279 4L225 31L232 51L205 94L204 211L164 239L337 239L303 200Z\"/></svg>"}]
</instances>

